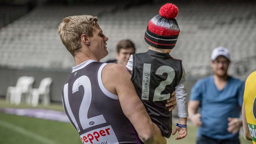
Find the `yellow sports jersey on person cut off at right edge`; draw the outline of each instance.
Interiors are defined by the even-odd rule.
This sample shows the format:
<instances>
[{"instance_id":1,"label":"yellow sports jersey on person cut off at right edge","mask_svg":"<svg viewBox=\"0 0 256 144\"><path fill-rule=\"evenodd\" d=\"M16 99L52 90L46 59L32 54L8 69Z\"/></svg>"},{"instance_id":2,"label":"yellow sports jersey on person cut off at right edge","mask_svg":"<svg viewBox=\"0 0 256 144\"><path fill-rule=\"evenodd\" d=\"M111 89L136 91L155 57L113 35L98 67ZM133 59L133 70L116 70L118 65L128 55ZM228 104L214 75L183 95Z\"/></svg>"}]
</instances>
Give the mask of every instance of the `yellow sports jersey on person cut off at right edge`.
<instances>
[{"instance_id":1,"label":"yellow sports jersey on person cut off at right edge","mask_svg":"<svg viewBox=\"0 0 256 144\"><path fill-rule=\"evenodd\" d=\"M243 101L245 115L253 144L256 144L256 71L252 72L245 82Z\"/></svg>"}]
</instances>

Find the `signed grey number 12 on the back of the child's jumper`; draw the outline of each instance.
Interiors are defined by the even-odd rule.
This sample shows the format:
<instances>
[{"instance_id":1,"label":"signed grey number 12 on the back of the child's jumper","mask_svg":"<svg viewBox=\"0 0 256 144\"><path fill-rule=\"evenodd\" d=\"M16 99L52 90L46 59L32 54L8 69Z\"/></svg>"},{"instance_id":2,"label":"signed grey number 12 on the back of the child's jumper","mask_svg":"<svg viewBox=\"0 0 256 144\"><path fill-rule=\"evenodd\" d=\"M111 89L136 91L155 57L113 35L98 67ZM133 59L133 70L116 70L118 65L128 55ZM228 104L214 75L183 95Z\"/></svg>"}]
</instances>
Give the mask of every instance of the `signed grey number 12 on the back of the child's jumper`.
<instances>
[{"instance_id":1,"label":"signed grey number 12 on the back of the child's jumper","mask_svg":"<svg viewBox=\"0 0 256 144\"><path fill-rule=\"evenodd\" d=\"M144 63L143 65L143 77L142 77L142 93L141 100L148 100L149 97L149 87L150 87L150 75L151 75L151 64ZM167 85L170 85L173 82L175 77L175 71L171 66L160 66L156 70L157 75L163 75L167 73L167 79L160 82L160 85L154 90L153 102L167 100L171 97L171 92L168 94L161 94Z\"/></svg>"}]
</instances>

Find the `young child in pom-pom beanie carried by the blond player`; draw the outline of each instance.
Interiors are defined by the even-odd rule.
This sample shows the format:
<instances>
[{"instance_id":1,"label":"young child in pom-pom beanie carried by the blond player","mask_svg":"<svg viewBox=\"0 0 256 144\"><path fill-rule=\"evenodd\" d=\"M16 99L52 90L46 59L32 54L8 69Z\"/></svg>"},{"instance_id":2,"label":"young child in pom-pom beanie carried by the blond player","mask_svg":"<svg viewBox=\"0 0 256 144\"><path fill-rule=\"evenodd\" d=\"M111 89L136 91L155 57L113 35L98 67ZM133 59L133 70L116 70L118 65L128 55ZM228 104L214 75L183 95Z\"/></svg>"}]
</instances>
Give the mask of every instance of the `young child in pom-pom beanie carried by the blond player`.
<instances>
[{"instance_id":1,"label":"young child in pom-pom beanie carried by the blond player","mask_svg":"<svg viewBox=\"0 0 256 144\"><path fill-rule=\"evenodd\" d=\"M178 131L176 140L186 137L188 116L186 73L182 61L173 59L169 54L180 33L174 19L177 14L178 8L174 4L163 5L159 15L148 22L145 33L148 52L131 55L126 65L150 118L167 138L172 132L172 112L168 111L165 103L175 91L179 116L173 131L173 135Z\"/></svg>"}]
</instances>

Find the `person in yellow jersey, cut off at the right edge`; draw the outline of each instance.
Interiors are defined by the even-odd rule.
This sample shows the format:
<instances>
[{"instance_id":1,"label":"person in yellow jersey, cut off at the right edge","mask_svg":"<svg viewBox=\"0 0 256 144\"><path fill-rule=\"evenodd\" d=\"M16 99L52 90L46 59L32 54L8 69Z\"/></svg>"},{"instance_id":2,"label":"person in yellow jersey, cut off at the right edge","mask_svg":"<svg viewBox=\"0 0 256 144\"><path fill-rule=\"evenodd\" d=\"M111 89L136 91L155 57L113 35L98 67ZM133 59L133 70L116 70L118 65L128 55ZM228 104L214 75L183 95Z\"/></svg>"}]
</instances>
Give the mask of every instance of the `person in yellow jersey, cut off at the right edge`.
<instances>
[{"instance_id":1,"label":"person in yellow jersey, cut off at the right edge","mask_svg":"<svg viewBox=\"0 0 256 144\"><path fill-rule=\"evenodd\" d=\"M256 71L252 72L245 82L242 119L243 131L247 140L256 144Z\"/></svg>"}]
</instances>

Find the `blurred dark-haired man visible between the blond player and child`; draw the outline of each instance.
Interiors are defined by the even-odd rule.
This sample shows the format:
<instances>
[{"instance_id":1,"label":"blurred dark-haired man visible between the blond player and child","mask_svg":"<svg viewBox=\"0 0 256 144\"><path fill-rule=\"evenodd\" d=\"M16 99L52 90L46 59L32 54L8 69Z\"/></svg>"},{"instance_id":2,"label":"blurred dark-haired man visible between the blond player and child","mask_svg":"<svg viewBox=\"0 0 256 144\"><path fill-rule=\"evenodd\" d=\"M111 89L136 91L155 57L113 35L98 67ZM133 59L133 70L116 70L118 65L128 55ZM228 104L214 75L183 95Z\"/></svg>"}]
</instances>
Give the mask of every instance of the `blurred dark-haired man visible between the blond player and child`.
<instances>
[{"instance_id":1,"label":"blurred dark-haired man visible between the blond player and child","mask_svg":"<svg viewBox=\"0 0 256 144\"><path fill-rule=\"evenodd\" d=\"M115 59L108 60L106 63L118 63L126 66L130 55L135 54L135 46L129 39L121 40L117 43Z\"/></svg>"}]
</instances>

